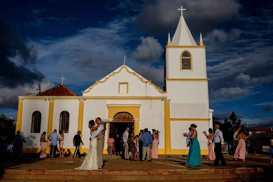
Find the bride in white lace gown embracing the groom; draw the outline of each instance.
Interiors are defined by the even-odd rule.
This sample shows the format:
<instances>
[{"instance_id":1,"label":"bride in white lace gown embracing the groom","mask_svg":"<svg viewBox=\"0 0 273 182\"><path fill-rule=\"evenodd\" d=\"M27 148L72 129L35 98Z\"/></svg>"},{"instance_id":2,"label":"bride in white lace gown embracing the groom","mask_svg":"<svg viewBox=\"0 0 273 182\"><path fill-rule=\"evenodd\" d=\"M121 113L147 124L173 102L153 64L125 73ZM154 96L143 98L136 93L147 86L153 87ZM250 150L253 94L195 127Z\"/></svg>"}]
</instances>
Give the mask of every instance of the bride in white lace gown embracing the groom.
<instances>
[{"instance_id":1,"label":"bride in white lace gown embracing the groom","mask_svg":"<svg viewBox=\"0 0 273 182\"><path fill-rule=\"evenodd\" d=\"M99 125L102 123L99 123L96 125L94 120L89 121L88 127L90 129L90 135L92 136L96 129L99 127ZM91 140L90 141L90 149L87 153L85 159L83 160L83 163L80 167L77 167L75 169L77 170L98 170L98 155L97 155L97 140Z\"/></svg>"}]
</instances>

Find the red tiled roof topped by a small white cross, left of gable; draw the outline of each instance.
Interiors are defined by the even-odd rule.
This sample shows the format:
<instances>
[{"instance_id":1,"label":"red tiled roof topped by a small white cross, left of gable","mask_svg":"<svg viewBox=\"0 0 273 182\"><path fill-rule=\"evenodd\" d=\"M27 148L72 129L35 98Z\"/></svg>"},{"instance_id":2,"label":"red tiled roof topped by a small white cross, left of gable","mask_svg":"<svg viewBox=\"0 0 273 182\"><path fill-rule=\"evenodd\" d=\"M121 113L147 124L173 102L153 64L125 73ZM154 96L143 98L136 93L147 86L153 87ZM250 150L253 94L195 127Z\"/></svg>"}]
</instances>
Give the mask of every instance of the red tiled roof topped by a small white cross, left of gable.
<instances>
[{"instance_id":1,"label":"red tiled roof topped by a small white cross, left of gable","mask_svg":"<svg viewBox=\"0 0 273 182\"><path fill-rule=\"evenodd\" d=\"M72 92L67 86L61 84L44 92L38 93L36 96L79 96Z\"/></svg>"}]
</instances>

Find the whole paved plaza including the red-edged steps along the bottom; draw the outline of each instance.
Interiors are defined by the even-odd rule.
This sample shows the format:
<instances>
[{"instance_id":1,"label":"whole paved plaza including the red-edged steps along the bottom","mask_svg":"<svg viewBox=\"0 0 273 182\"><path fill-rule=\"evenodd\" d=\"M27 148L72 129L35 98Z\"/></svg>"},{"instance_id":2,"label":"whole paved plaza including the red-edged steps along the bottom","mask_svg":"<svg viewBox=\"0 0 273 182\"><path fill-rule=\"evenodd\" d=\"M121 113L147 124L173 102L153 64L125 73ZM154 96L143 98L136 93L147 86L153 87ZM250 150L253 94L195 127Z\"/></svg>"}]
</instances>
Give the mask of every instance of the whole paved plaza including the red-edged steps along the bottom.
<instances>
[{"instance_id":1,"label":"whole paved plaza including the red-edged steps along the bottom","mask_svg":"<svg viewBox=\"0 0 273 182\"><path fill-rule=\"evenodd\" d=\"M103 171L73 170L85 157L40 160L37 154L24 154L4 163L1 181L270 181L273 163L268 155L247 155L245 162L224 155L227 166L212 167L213 160L201 156L201 166L184 166L186 156L159 155L159 159L130 161L104 155ZM144 178L143 178L144 177ZM92 180L90 180L92 179ZM272 181L272 180L271 180Z\"/></svg>"}]
</instances>

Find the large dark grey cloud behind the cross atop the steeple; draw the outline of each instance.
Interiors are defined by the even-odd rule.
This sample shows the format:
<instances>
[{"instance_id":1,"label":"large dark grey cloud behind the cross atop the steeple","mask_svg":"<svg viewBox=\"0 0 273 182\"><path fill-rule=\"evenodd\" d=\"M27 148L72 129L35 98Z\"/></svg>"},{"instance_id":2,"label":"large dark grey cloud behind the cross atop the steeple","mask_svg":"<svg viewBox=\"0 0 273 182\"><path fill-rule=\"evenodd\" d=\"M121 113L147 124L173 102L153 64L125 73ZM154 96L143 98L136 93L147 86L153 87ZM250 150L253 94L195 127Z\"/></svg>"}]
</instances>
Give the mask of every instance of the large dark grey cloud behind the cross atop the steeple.
<instances>
[{"instance_id":1,"label":"large dark grey cloud behind the cross atop the steeple","mask_svg":"<svg viewBox=\"0 0 273 182\"><path fill-rule=\"evenodd\" d=\"M142 13L136 18L135 24L141 31L150 34L164 34L174 29L181 15L177 9L186 8L183 16L193 32L202 27L202 32L210 32L215 24L224 24L239 16L240 3L236 0L151 0L145 1ZM228 8L227 8L228 7ZM198 25L198 26L197 26Z\"/></svg>"}]
</instances>

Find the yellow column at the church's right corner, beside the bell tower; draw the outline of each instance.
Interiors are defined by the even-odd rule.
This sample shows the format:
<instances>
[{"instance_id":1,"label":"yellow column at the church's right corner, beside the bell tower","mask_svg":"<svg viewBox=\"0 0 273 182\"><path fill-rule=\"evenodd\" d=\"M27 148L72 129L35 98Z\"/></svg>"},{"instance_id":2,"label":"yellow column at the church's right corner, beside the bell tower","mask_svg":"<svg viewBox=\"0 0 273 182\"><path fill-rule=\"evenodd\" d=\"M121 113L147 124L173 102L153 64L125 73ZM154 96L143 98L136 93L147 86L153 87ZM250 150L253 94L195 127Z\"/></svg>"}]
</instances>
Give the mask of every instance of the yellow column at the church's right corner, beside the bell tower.
<instances>
[{"instance_id":1,"label":"yellow column at the church's right corner, beside the bell tower","mask_svg":"<svg viewBox=\"0 0 273 182\"><path fill-rule=\"evenodd\" d=\"M170 140L170 99L164 99L164 137L165 137L165 154L171 154Z\"/></svg>"}]
</instances>

